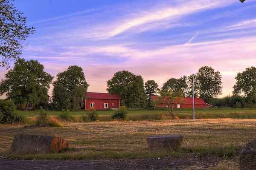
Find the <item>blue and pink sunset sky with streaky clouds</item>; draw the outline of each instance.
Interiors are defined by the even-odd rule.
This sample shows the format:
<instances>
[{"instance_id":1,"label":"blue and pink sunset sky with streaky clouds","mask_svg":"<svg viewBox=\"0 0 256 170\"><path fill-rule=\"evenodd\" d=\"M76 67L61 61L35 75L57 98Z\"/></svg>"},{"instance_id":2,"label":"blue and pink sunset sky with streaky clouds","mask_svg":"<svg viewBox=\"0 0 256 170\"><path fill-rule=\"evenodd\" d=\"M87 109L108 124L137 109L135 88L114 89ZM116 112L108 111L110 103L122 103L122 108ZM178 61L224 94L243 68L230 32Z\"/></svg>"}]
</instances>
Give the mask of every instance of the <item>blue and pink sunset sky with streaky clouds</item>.
<instances>
[{"instance_id":1,"label":"blue and pink sunset sky with streaky clouds","mask_svg":"<svg viewBox=\"0 0 256 170\"><path fill-rule=\"evenodd\" d=\"M211 66L221 72L223 97L232 94L238 72L256 66L256 0L13 3L36 29L21 57L38 60L55 78L70 65L81 66L90 92L107 92L106 82L117 71L162 87L170 78ZM0 79L5 73L0 68Z\"/></svg>"}]
</instances>

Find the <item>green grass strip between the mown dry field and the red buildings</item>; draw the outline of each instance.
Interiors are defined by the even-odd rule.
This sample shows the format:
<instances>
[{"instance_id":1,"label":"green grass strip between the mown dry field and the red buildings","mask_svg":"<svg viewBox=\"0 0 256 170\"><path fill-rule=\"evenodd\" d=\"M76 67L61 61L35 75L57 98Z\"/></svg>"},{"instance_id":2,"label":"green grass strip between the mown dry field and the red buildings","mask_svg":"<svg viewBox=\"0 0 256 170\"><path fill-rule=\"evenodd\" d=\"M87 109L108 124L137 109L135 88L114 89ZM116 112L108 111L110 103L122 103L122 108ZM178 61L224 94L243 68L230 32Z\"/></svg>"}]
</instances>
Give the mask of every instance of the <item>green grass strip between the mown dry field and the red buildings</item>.
<instances>
[{"instance_id":1,"label":"green grass strip between the mown dry field and the red buildings","mask_svg":"<svg viewBox=\"0 0 256 170\"><path fill-rule=\"evenodd\" d=\"M38 111L17 111L24 116L36 116ZM58 116L61 111L47 111L50 116ZM83 116L85 111L70 112L73 116ZM111 118L113 111L99 111L99 115L106 120ZM174 113L180 119L191 119L192 109L175 109ZM130 120L147 120L147 119L171 119L166 110L129 110L128 117ZM195 109L196 119L211 118L233 118L233 119L256 119L256 109L234 109L234 108L205 108ZM105 119L102 119L105 120Z\"/></svg>"}]
</instances>

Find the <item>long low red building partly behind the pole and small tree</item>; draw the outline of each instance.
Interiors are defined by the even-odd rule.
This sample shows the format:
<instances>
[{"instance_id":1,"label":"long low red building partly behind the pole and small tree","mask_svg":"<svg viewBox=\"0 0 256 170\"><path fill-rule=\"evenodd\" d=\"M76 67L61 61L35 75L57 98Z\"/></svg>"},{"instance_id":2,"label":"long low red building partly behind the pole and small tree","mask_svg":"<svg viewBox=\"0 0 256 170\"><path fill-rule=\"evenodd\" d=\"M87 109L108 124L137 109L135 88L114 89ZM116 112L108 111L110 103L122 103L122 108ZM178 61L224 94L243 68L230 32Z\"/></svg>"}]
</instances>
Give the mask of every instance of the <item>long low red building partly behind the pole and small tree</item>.
<instances>
[{"instance_id":1,"label":"long low red building partly behind the pole and small tree","mask_svg":"<svg viewBox=\"0 0 256 170\"><path fill-rule=\"evenodd\" d=\"M151 96L154 102L157 102L157 96ZM184 97L181 101L174 102L175 108L192 108L193 98ZM204 102L204 99L195 97L195 108L210 108L212 105ZM157 108L166 108L166 104L157 103Z\"/></svg>"}]
</instances>

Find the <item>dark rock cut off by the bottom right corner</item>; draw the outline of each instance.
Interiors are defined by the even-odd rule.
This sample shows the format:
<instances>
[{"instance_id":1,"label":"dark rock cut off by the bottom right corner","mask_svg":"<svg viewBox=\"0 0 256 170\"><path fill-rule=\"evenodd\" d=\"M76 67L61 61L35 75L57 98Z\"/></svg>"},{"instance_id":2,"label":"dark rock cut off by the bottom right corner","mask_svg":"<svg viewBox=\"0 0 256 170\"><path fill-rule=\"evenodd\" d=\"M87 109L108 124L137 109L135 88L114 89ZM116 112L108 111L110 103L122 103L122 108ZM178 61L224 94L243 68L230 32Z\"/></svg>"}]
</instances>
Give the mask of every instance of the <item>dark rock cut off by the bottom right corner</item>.
<instances>
[{"instance_id":1,"label":"dark rock cut off by the bottom right corner","mask_svg":"<svg viewBox=\"0 0 256 170\"><path fill-rule=\"evenodd\" d=\"M239 156L240 170L256 170L256 140L246 144Z\"/></svg>"}]
</instances>

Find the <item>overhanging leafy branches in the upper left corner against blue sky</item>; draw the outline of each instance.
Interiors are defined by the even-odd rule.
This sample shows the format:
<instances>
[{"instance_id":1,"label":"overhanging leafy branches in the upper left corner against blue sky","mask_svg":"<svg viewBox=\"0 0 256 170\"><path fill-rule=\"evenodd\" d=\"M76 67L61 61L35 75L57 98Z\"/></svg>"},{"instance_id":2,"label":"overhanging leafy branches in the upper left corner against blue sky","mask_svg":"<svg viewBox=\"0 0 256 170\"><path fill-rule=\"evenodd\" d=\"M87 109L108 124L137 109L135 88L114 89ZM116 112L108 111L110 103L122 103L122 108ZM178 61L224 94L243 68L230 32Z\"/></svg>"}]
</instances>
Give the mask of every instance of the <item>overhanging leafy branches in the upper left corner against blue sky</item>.
<instances>
[{"instance_id":1,"label":"overhanging leafy branches in the upper left corner against blue sky","mask_svg":"<svg viewBox=\"0 0 256 170\"><path fill-rule=\"evenodd\" d=\"M9 65L10 59L17 60L29 34L35 28L26 26L26 17L9 0L0 0L0 66Z\"/></svg>"}]
</instances>

